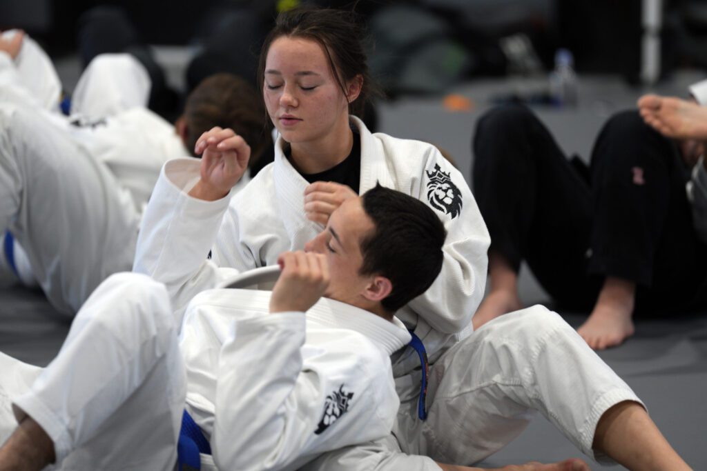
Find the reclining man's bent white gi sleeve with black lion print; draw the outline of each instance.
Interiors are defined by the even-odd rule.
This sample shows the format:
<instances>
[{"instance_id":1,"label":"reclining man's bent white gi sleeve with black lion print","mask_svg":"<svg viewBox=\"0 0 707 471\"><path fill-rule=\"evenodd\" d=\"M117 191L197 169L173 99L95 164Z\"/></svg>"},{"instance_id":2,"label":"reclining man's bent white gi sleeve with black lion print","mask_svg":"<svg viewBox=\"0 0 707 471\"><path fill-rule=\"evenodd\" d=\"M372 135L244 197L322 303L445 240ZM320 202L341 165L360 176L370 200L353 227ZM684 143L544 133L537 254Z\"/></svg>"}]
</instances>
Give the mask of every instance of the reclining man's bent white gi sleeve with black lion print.
<instances>
[{"instance_id":1,"label":"reclining man's bent white gi sleeve with black lion print","mask_svg":"<svg viewBox=\"0 0 707 471\"><path fill-rule=\"evenodd\" d=\"M360 334L328 336L304 346L302 313L234 323L218 362L211 436L218 469L295 469L390 434L399 406L390 360Z\"/></svg>"}]
</instances>

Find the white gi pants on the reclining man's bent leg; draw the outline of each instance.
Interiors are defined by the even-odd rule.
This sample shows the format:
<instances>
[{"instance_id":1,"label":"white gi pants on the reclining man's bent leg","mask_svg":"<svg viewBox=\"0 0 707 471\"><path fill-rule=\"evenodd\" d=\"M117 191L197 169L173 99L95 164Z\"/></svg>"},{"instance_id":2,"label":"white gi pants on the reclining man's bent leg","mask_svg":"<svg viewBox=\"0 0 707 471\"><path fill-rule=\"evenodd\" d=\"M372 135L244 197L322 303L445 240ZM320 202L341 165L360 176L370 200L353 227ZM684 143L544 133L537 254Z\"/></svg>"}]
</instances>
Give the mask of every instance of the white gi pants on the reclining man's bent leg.
<instances>
[{"instance_id":1,"label":"white gi pants on the reclining man's bent leg","mask_svg":"<svg viewBox=\"0 0 707 471\"><path fill-rule=\"evenodd\" d=\"M186 377L160 283L112 275L49 366L0 354L0 371L0 443L26 414L54 441L59 469L174 469Z\"/></svg>"}]
</instances>

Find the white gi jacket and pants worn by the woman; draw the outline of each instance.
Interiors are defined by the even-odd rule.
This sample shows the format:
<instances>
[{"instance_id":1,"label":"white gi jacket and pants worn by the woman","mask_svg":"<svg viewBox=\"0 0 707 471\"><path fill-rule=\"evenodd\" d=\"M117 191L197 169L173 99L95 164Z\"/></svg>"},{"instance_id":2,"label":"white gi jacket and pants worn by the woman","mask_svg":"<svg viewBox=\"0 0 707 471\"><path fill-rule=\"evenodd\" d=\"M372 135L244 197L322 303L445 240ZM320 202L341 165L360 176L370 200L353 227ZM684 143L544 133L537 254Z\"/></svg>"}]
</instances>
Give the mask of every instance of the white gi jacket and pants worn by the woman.
<instances>
[{"instance_id":1,"label":"white gi jacket and pants worn by the woman","mask_svg":"<svg viewBox=\"0 0 707 471\"><path fill-rule=\"evenodd\" d=\"M322 455L311 469L436 470L427 455L470 464L518 436L539 410L585 453L603 412L633 391L590 350L557 314L541 306L503 316L472 334L471 319L484 294L489 235L471 192L432 145L361 135L363 193L379 182L419 198L438 212L448 230L442 273L430 290L397 313L426 346L431 362L426 405L419 419L421 370L411 348L392 356L401 407L393 436L365 447ZM282 252L301 249L322 227L305 217L308 185L276 143L275 162L230 201L206 202L187 195L199 179L199 162L165 165L144 223L160 229L141 249L136 270L165 282L177 317L202 284L223 273L273 264ZM218 227L220 226L220 229ZM206 261L214 233L213 261ZM141 234L142 237L143 234ZM185 249L185 247L191 247ZM582 391L576 384L585 386ZM404 453L400 453L400 451ZM600 457L596 457L600 458Z\"/></svg>"}]
</instances>

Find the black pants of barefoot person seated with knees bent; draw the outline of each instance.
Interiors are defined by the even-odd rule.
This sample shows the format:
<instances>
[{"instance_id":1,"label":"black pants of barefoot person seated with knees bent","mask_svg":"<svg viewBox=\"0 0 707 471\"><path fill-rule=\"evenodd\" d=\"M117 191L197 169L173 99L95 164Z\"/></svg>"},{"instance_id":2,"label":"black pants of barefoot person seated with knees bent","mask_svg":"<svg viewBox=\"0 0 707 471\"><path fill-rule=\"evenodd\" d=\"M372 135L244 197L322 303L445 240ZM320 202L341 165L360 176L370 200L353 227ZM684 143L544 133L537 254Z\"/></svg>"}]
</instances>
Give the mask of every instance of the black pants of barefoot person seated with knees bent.
<instances>
[{"instance_id":1,"label":"black pants of barefoot person seated with knees bent","mask_svg":"<svg viewBox=\"0 0 707 471\"><path fill-rule=\"evenodd\" d=\"M525 260L556 302L591 309L607 276L636 282L636 312L707 307L707 246L694 231L677 146L637 112L600 131L591 165L568 160L517 105L491 110L474 135L474 195L491 251Z\"/></svg>"}]
</instances>

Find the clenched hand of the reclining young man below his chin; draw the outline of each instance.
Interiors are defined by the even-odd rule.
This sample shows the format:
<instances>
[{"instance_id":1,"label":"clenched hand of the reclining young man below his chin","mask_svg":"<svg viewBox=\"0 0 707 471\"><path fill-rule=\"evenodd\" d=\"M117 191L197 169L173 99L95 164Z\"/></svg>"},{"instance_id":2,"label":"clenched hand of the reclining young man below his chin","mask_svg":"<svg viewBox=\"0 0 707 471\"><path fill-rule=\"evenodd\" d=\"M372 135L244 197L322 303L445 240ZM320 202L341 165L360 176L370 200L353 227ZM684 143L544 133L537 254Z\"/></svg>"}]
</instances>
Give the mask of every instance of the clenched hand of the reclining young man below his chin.
<instances>
[{"instance_id":1,"label":"clenched hand of the reclining young man below his chin","mask_svg":"<svg viewBox=\"0 0 707 471\"><path fill-rule=\"evenodd\" d=\"M305 312L329 286L329 265L321 254L285 252L277 258L282 272L270 297L270 312Z\"/></svg>"}]
</instances>

